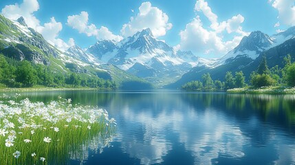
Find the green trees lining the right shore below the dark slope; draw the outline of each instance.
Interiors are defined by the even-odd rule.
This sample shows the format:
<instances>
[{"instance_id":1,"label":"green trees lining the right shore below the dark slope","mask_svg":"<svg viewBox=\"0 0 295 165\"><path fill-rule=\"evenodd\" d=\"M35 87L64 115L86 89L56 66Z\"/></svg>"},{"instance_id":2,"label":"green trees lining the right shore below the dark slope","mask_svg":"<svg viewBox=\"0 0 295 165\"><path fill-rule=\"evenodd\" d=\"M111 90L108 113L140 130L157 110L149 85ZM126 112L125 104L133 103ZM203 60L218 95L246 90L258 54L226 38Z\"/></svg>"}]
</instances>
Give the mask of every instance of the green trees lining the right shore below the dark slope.
<instances>
[{"instance_id":1,"label":"green trees lining the right shore below the dark slope","mask_svg":"<svg viewBox=\"0 0 295 165\"><path fill-rule=\"evenodd\" d=\"M292 63L291 56L288 54L283 60L283 68L278 65L268 68L266 57L263 56L259 67L250 74L248 84L245 82L243 72L226 72L224 82L212 80L210 74L203 74L201 80L190 81L182 85L186 90L202 89L232 89L241 87L267 87L267 86L287 86L295 87L295 63Z\"/></svg>"}]
</instances>

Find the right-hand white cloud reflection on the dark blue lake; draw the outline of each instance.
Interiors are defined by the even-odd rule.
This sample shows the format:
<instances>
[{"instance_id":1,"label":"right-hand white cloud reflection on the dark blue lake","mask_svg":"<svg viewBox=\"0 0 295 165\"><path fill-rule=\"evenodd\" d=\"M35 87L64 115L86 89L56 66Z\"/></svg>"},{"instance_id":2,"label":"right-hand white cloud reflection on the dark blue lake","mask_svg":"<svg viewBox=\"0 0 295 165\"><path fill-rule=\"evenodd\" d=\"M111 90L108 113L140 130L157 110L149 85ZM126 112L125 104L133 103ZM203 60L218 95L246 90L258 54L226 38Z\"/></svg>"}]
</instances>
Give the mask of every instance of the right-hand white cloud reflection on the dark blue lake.
<instances>
[{"instance_id":1,"label":"right-hand white cloud reflection on the dark blue lake","mask_svg":"<svg viewBox=\"0 0 295 165\"><path fill-rule=\"evenodd\" d=\"M179 133L180 142L184 143L186 150L193 152L195 164L211 164L212 159L220 155L232 158L245 155L243 145L247 140L241 130L223 122L220 115L222 114L207 110L204 115L194 119L196 129L175 130ZM186 123L183 124L186 128Z\"/></svg>"}]
</instances>

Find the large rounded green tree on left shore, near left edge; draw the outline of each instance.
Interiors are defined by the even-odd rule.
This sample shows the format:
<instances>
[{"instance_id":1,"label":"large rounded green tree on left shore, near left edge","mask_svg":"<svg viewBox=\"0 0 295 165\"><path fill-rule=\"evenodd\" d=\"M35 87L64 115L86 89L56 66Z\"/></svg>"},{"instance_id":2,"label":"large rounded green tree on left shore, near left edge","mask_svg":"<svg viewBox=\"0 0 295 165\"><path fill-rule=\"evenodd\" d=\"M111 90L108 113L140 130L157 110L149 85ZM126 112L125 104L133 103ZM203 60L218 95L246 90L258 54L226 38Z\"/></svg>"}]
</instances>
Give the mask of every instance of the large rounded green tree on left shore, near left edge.
<instances>
[{"instance_id":1,"label":"large rounded green tree on left shore, near left edge","mask_svg":"<svg viewBox=\"0 0 295 165\"><path fill-rule=\"evenodd\" d=\"M15 80L20 83L21 87L33 87L33 85L36 85L36 71L30 62L21 61L21 65L17 67Z\"/></svg>"}]
</instances>

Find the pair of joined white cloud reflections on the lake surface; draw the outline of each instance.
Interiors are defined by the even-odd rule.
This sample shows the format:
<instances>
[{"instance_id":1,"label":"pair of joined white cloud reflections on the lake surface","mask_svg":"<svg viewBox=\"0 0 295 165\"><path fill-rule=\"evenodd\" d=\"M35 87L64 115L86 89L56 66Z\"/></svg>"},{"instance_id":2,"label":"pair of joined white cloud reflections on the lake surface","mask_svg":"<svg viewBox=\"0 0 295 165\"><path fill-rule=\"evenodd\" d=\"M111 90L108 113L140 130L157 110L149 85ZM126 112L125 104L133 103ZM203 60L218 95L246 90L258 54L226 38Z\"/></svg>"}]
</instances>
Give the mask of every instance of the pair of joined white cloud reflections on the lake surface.
<instances>
[{"instance_id":1,"label":"pair of joined white cloud reflections on the lake surface","mask_svg":"<svg viewBox=\"0 0 295 165\"><path fill-rule=\"evenodd\" d=\"M187 151L192 151L196 164L210 164L220 154L228 157L243 157L246 140L239 128L224 122L224 116L212 109L199 115L194 109L168 109L153 115L151 111L123 110L125 121L122 133L122 148L141 164L163 162L163 157L172 150L167 135L173 131ZM140 133L132 133L134 124L140 125ZM119 124L120 126L120 124ZM129 132L129 133L127 133Z\"/></svg>"}]
</instances>

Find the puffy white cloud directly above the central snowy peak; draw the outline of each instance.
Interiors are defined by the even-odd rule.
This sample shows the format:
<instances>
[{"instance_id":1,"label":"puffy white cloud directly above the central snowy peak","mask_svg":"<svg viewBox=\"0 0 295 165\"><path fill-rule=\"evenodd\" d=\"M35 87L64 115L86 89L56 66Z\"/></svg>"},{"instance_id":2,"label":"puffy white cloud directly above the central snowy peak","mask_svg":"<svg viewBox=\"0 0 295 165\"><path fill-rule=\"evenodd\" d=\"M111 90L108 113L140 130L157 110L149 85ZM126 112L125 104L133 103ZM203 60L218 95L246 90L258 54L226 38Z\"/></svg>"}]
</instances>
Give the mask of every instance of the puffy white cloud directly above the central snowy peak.
<instances>
[{"instance_id":1,"label":"puffy white cloud directly above the central snowy peak","mask_svg":"<svg viewBox=\"0 0 295 165\"><path fill-rule=\"evenodd\" d=\"M150 28L155 37L164 36L167 30L171 30L172 24L168 23L168 16L159 8L153 7L147 1L140 5L139 12L131 17L129 23L122 26L122 36L131 36L146 28Z\"/></svg>"}]
</instances>

